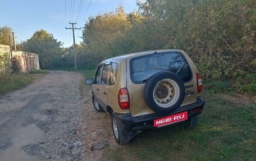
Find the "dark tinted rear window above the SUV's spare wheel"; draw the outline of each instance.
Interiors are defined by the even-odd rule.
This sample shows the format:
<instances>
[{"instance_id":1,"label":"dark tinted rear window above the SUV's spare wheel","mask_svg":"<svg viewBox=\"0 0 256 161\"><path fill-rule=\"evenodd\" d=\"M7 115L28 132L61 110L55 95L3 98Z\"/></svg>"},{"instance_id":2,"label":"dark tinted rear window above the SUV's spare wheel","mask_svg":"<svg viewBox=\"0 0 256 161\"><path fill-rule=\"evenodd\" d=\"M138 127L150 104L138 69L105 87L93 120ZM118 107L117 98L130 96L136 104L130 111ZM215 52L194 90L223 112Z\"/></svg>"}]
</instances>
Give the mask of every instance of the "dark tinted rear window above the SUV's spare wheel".
<instances>
[{"instance_id":1,"label":"dark tinted rear window above the SUV's spare wheel","mask_svg":"<svg viewBox=\"0 0 256 161\"><path fill-rule=\"evenodd\" d=\"M130 76L135 84L147 82L150 76L161 71L176 73L184 82L192 79L189 63L180 52L150 54L130 60Z\"/></svg>"}]
</instances>

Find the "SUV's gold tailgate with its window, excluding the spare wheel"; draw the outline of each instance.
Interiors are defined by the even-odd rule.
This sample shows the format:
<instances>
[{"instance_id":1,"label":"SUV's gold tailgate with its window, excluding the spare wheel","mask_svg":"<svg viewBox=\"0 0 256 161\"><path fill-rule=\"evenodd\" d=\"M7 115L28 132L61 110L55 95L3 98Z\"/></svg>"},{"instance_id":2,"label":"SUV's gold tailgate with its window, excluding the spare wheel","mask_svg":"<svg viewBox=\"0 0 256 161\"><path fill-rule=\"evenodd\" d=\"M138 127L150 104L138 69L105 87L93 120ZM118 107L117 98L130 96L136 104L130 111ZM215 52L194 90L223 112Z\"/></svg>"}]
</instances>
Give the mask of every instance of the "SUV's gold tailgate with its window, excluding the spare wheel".
<instances>
[{"instance_id":1,"label":"SUV's gold tailgate with its window, excluding the spare wheel","mask_svg":"<svg viewBox=\"0 0 256 161\"><path fill-rule=\"evenodd\" d=\"M127 89L130 94L130 113L141 116L154 113L145 103L145 84L150 77L158 72L172 72L181 78L185 86L184 101L180 107L196 102L196 79L194 68L191 68L185 53L179 51L148 54L130 60L130 77ZM132 91L132 92L131 92ZM134 108L135 107L135 108Z\"/></svg>"}]
</instances>

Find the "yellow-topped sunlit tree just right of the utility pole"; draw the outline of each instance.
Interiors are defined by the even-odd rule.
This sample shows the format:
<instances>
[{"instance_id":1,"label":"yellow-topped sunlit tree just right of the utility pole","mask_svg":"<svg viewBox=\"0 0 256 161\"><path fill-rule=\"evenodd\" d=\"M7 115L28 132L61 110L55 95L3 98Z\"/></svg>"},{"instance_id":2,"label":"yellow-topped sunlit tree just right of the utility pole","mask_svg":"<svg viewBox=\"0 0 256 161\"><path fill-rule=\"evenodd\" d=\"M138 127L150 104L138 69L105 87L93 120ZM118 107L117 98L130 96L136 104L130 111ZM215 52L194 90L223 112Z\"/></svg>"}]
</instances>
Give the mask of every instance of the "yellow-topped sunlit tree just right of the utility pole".
<instances>
[{"instance_id":1,"label":"yellow-topped sunlit tree just right of the utility pole","mask_svg":"<svg viewBox=\"0 0 256 161\"><path fill-rule=\"evenodd\" d=\"M118 54L115 53L117 50L113 50L113 43L124 38L130 27L129 19L122 6L118 7L116 12L103 13L89 18L83 29L83 40L87 53L90 54L95 65L104 58Z\"/></svg>"}]
</instances>

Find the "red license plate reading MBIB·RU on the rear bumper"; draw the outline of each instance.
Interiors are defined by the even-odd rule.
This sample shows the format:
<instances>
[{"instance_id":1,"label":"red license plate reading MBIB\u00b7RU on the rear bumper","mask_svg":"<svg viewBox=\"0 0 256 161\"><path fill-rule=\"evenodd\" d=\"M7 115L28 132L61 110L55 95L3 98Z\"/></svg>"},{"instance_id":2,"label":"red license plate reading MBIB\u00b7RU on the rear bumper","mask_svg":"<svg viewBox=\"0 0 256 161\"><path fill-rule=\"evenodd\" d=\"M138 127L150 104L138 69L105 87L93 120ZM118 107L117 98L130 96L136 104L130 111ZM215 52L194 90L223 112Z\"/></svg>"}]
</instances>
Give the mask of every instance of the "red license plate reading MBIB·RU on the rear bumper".
<instances>
[{"instance_id":1,"label":"red license plate reading MBIB\u00b7RU on the rear bumper","mask_svg":"<svg viewBox=\"0 0 256 161\"><path fill-rule=\"evenodd\" d=\"M185 121L186 119L188 119L188 111L155 119L154 127L161 127L161 126L169 125L169 124L180 122L180 121Z\"/></svg>"}]
</instances>

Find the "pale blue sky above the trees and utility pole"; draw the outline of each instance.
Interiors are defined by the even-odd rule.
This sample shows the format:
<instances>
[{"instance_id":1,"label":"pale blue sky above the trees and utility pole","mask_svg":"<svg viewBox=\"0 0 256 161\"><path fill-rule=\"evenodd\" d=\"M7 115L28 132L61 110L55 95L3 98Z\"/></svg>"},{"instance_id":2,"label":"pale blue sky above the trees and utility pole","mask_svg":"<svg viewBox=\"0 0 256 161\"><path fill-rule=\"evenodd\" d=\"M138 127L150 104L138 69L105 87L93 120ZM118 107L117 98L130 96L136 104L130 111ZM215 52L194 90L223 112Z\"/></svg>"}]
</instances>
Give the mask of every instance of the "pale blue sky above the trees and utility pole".
<instances>
[{"instance_id":1,"label":"pale blue sky above the trees and utility pole","mask_svg":"<svg viewBox=\"0 0 256 161\"><path fill-rule=\"evenodd\" d=\"M136 0L0 0L0 27L11 27L16 43L44 29L64 43L63 47L70 47L72 30L65 29L71 27L69 22L76 22L74 27L83 29L89 16L115 11L120 4L126 13L138 11ZM75 30L76 43L82 41L81 36L82 30Z\"/></svg>"}]
</instances>

